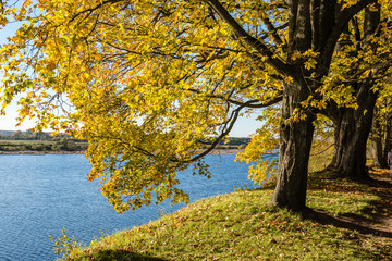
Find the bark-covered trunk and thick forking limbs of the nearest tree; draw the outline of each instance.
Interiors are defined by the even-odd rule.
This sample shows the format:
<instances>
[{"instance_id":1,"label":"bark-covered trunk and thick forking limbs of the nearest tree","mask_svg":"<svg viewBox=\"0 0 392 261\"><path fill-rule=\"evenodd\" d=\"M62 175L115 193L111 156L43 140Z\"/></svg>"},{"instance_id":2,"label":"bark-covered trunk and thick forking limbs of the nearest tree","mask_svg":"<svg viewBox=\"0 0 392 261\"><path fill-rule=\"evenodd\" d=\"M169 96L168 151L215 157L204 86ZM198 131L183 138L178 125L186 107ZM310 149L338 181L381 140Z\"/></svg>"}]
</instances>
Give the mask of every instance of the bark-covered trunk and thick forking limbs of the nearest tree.
<instances>
[{"instance_id":1,"label":"bark-covered trunk and thick forking limbs of the nearest tree","mask_svg":"<svg viewBox=\"0 0 392 261\"><path fill-rule=\"evenodd\" d=\"M220 1L204 1L231 26L244 44L256 50L253 58L257 59L257 54L261 54L261 61L268 62L283 77L291 78L287 80L291 84L283 86L279 173L272 203L292 210L305 209L315 115L310 109L302 108L301 102L315 95L322 77L328 75L338 39L350 20L376 0L359 0L339 12L339 15L335 15L336 11L342 7L336 0L285 1L289 12L289 37L286 41L282 41L285 42L282 55L275 55L267 45L245 32ZM293 54L303 54L308 50L319 53L315 66L306 66L306 58L293 58ZM302 110L301 121L294 120L296 110Z\"/></svg>"}]
</instances>

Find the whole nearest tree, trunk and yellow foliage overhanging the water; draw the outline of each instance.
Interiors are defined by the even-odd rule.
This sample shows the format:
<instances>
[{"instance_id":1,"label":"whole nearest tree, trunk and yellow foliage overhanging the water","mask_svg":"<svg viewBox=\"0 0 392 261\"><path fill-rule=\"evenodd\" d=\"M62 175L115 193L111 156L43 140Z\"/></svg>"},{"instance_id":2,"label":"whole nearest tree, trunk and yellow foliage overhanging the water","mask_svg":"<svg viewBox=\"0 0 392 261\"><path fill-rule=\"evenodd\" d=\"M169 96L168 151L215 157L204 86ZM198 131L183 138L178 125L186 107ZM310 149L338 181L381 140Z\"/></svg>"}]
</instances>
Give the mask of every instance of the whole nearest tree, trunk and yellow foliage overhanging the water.
<instances>
[{"instance_id":1,"label":"whole nearest tree, trunk and yellow foliage overhanging the water","mask_svg":"<svg viewBox=\"0 0 392 261\"><path fill-rule=\"evenodd\" d=\"M301 210L335 45L375 2L38 1L40 15L27 12L1 50L2 97L25 91L21 113L38 128L87 138L89 178L120 212L187 200L176 173L209 175L203 156L238 115L282 101L272 202Z\"/></svg>"}]
</instances>

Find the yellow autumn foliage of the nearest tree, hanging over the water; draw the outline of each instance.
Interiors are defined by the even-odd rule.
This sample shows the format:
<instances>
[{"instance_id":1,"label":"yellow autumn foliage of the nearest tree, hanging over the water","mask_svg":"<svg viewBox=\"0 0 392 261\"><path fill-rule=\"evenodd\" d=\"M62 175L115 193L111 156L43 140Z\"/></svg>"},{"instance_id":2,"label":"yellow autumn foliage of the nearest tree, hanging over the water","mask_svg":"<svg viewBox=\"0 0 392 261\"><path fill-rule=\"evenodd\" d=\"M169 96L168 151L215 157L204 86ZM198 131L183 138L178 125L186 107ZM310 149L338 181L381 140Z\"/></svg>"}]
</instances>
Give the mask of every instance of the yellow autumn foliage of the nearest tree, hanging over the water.
<instances>
[{"instance_id":1,"label":"yellow autumn foliage of the nearest tree, hanging over the water","mask_svg":"<svg viewBox=\"0 0 392 261\"><path fill-rule=\"evenodd\" d=\"M152 197L187 201L176 173L193 165L209 176L201 156L243 109L279 100L270 66L252 60L200 1L38 1L38 8L40 15L26 14L28 23L1 49L3 104L24 91L21 119L88 139L89 179L100 178L119 212ZM269 4L226 8L268 38L257 17ZM212 146L201 150L207 139Z\"/></svg>"}]
</instances>

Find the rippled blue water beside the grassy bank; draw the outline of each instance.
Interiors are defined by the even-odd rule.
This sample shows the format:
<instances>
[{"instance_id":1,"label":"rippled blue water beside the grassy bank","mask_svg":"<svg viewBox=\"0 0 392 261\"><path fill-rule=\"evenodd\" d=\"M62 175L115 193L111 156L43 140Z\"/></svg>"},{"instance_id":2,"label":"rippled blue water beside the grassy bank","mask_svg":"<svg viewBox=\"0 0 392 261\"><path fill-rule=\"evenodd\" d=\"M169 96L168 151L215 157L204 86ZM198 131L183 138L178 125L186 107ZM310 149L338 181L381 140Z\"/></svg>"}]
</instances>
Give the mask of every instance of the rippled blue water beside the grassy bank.
<instances>
[{"instance_id":1,"label":"rippled blue water beside the grassy bank","mask_svg":"<svg viewBox=\"0 0 392 261\"><path fill-rule=\"evenodd\" d=\"M234 162L235 156L208 156L212 178L181 173L181 188L191 201L226 194L233 185L253 187L248 166ZM89 163L81 154L0 156L0 261L53 260L54 244L62 227L77 241L88 244L102 233L110 234L148 223L163 212L184 207L170 202L117 214L88 182Z\"/></svg>"}]
</instances>

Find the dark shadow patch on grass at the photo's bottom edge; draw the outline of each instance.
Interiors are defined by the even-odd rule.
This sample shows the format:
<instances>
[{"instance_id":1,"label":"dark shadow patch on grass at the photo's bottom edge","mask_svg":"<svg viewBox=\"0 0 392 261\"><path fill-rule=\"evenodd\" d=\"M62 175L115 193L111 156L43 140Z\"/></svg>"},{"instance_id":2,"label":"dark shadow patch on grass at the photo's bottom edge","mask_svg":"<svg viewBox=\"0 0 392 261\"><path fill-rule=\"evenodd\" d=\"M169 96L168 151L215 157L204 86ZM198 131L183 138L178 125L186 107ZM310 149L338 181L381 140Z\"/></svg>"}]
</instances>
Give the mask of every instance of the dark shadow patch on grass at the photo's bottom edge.
<instances>
[{"instance_id":1,"label":"dark shadow patch on grass at the photo's bottom edge","mask_svg":"<svg viewBox=\"0 0 392 261\"><path fill-rule=\"evenodd\" d=\"M149 254L130 252L125 250L100 250L93 254L84 254L81 260L99 261L167 261L167 259L151 257Z\"/></svg>"}]
</instances>

